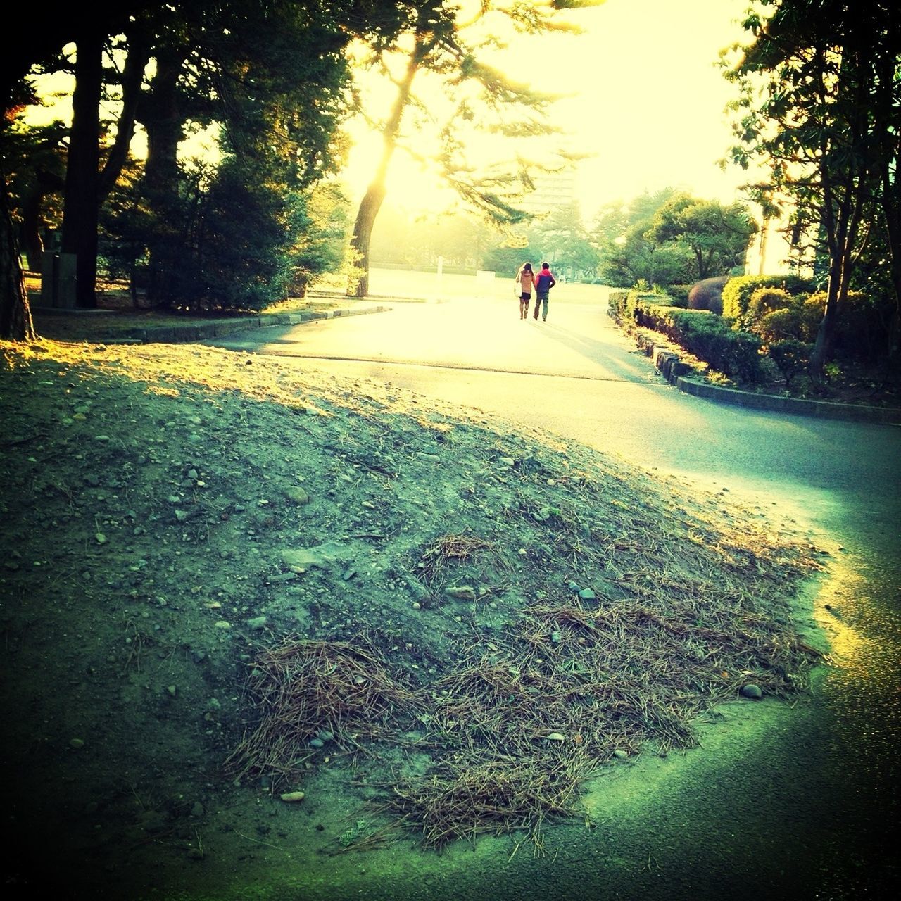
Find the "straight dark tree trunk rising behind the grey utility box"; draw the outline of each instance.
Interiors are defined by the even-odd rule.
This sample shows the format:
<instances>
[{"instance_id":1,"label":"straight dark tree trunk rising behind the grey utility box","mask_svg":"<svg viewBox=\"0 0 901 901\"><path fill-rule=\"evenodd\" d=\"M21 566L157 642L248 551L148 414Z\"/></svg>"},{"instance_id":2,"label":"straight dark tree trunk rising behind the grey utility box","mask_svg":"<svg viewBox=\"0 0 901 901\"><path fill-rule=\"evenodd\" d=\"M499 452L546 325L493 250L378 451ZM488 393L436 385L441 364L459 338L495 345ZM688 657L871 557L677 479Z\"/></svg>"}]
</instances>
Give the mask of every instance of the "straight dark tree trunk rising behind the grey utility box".
<instances>
[{"instance_id":1,"label":"straight dark tree trunk rising behind the grey utility box","mask_svg":"<svg viewBox=\"0 0 901 901\"><path fill-rule=\"evenodd\" d=\"M88 32L78 38L76 45L60 249L75 254L75 304L80 307L97 305L97 183L104 40L103 34Z\"/></svg>"}]
</instances>

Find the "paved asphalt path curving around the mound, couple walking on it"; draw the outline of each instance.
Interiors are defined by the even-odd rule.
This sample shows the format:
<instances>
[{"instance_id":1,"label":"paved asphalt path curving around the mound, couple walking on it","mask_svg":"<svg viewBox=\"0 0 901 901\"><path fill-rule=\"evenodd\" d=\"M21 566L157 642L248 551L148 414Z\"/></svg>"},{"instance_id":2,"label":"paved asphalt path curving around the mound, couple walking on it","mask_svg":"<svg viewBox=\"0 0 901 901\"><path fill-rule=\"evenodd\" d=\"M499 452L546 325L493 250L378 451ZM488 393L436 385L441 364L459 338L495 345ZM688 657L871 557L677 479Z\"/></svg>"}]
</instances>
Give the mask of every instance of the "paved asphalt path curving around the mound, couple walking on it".
<instances>
[{"instance_id":1,"label":"paved asphalt path curving around the mound, couple walking on it","mask_svg":"<svg viewBox=\"0 0 901 901\"><path fill-rule=\"evenodd\" d=\"M565 286L560 286L564 287ZM591 831L506 863L491 842L365 883L371 898L876 898L899 886L901 429L750 411L669 386L603 307L551 295L546 323L510 299L391 312L210 341L376 378L555 432L698 489L727 489L833 554L811 587L832 656L810 702L737 705L704 751L643 760L588 797ZM463 855L460 857L460 855ZM469 855L469 856L467 856ZM387 873L385 878L387 879ZM357 896L353 869L331 898ZM423 887L424 886L424 887ZM362 888L359 888L362 893Z\"/></svg>"}]
</instances>

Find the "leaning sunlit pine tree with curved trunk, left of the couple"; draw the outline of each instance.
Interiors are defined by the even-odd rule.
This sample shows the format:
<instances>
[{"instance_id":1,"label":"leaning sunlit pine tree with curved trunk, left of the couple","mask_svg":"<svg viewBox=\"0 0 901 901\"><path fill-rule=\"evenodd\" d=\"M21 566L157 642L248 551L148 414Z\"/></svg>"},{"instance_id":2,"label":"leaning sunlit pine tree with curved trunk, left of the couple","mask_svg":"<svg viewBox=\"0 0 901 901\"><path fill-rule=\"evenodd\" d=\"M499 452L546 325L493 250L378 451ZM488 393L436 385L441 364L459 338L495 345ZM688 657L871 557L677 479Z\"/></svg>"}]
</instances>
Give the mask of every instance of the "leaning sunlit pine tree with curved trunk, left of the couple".
<instances>
[{"instance_id":1,"label":"leaning sunlit pine tree with curved trunk, left of the couple","mask_svg":"<svg viewBox=\"0 0 901 901\"><path fill-rule=\"evenodd\" d=\"M417 136L421 137L427 124L436 130L438 174L471 209L496 222L522 221L524 214L517 205L518 197L532 187L534 167L519 158L479 172L469 163L460 134L479 129L520 137L547 132L549 125L542 122L542 114L551 97L514 83L487 64L483 57L488 48L496 48L497 39L485 26L501 18L517 33L552 29L575 32L576 26L560 21L556 14L560 9L587 5L596 4L590 0L552 0L544 4L506 5L486 0L469 20L463 19L460 7L449 0L404 5L408 11L405 29L395 41L373 45L367 59L369 68L378 68L389 79L394 98L383 121L369 117L370 124L381 134L382 147L354 223L352 246L362 272L354 288L357 296L365 296L369 289L373 226L385 199L391 160L396 150L405 146L403 126L408 111L415 114ZM451 108L441 121L434 102L414 92L414 82L421 80L423 74L441 86L434 96L452 98ZM422 158L412 147L405 146L405 150Z\"/></svg>"}]
</instances>

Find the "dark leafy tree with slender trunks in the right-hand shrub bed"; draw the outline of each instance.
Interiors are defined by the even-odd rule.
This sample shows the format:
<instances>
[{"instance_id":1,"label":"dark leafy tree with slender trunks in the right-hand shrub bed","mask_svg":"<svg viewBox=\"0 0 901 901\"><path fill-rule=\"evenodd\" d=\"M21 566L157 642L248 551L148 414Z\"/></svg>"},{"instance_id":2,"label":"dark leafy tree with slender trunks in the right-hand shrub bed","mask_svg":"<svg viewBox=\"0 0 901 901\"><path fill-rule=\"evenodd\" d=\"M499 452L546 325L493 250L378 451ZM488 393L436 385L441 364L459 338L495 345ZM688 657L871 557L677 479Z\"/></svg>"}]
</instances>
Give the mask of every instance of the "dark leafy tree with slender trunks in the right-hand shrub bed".
<instances>
[{"instance_id":1,"label":"dark leafy tree with slender trunks in the right-hand shrub bed","mask_svg":"<svg viewBox=\"0 0 901 901\"><path fill-rule=\"evenodd\" d=\"M787 197L798 229L828 259L810 359L819 380L861 251L861 226L880 203L887 225L897 211L899 13L890 0L760 0L744 25L753 40L726 72L741 87L733 160L745 168L762 161L769 180L756 194Z\"/></svg>"}]
</instances>

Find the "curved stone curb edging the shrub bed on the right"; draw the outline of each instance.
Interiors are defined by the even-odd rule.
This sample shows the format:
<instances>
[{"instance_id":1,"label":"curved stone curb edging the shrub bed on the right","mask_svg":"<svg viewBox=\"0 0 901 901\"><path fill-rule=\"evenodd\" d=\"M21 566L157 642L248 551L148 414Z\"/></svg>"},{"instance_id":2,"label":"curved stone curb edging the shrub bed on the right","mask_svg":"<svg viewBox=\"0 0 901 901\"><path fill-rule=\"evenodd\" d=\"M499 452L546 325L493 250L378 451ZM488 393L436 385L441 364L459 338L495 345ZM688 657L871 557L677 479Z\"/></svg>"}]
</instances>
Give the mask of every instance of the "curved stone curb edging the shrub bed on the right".
<instances>
[{"instance_id":1,"label":"curved stone curb edging the shrub bed on the right","mask_svg":"<svg viewBox=\"0 0 901 901\"><path fill-rule=\"evenodd\" d=\"M862 404L836 404L826 400L807 400L803 397L783 397L779 395L754 394L736 388L708 385L692 378L695 370L684 362L671 347L654 344L650 338L633 333L639 350L651 357L654 366L670 385L686 394L703 397L720 404L744 406L770 413L790 413L799 416L813 416L818 419L844 419L852 422L886 423L901 425L901 410L884 406Z\"/></svg>"}]
</instances>

